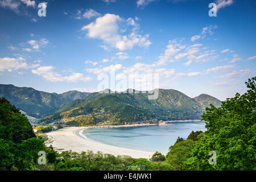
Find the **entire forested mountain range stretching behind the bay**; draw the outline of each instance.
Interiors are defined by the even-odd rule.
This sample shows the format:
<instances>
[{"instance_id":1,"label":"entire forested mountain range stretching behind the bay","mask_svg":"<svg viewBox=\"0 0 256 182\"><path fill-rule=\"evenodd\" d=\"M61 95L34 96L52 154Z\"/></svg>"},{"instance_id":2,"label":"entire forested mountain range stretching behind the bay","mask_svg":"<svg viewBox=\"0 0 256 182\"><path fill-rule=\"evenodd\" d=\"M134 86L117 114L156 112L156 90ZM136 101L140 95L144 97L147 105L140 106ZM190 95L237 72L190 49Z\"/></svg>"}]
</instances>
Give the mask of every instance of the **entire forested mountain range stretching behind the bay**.
<instances>
[{"instance_id":1,"label":"entire forested mountain range stretching behind the bay","mask_svg":"<svg viewBox=\"0 0 256 182\"><path fill-rule=\"evenodd\" d=\"M107 91L107 92L106 92ZM62 94L41 92L32 88L0 85L0 97L5 97L28 114L40 113L45 121L93 115L97 121L129 122L150 119L200 119L205 107L220 107L221 101L207 94L195 98L173 89L159 89L156 100L148 100L151 92L85 93L69 91Z\"/></svg>"}]
</instances>

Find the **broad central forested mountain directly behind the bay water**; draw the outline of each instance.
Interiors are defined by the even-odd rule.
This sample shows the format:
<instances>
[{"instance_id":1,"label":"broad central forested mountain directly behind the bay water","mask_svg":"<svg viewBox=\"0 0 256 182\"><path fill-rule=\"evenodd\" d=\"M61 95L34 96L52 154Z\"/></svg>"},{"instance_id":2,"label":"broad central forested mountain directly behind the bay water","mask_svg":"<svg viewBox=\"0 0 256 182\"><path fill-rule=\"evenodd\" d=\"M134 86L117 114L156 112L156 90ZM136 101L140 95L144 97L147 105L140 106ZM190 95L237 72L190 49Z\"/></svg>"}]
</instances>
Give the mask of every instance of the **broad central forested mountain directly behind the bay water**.
<instances>
[{"instance_id":1,"label":"broad central forested mountain directly behind the bay water","mask_svg":"<svg viewBox=\"0 0 256 182\"><path fill-rule=\"evenodd\" d=\"M48 120L92 114L101 121L114 123L151 119L200 119L205 105L220 106L214 97L201 97L200 102L173 89L159 89L156 100L148 100L150 93L91 93L82 100L69 102L49 111ZM206 95L206 94L204 94ZM213 101L213 102L212 102ZM202 104L201 104L202 103Z\"/></svg>"}]
</instances>

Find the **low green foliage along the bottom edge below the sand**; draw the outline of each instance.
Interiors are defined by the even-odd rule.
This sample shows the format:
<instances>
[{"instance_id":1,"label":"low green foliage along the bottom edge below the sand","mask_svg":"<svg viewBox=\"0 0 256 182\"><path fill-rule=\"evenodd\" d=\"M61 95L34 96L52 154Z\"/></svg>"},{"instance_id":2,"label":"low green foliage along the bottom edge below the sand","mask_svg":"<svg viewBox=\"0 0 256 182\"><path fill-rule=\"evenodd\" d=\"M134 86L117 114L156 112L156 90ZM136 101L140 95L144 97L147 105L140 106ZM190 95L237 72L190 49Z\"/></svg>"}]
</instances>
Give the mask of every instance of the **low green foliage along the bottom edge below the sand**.
<instances>
[{"instance_id":1,"label":"low green foliage along the bottom edge below the sand","mask_svg":"<svg viewBox=\"0 0 256 182\"><path fill-rule=\"evenodd\" d=\"M55 170L64 171L144 171L144 170L173 170L170 164L151 163L147 159L133 159L130 156L102 154L92 151L81 152L64 151L58 155Z\"/></svg>"}]
</instances>

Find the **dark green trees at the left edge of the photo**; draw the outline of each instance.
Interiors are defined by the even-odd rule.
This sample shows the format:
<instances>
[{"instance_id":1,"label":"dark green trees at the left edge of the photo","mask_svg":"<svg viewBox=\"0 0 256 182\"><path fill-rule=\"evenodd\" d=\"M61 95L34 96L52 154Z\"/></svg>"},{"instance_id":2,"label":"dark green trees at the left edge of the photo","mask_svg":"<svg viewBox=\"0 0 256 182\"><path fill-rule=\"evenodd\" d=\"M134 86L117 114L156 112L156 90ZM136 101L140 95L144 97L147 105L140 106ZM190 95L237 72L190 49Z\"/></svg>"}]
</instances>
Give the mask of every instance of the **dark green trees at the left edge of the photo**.
<instances>
[{"instance_id":1,"label":"dark green trees at the left edge of the photo","mask_svg":"<svg viewBox=\"0 0 256 182\"><path fill-rule=\"evenodd\" d=\"M41 150L46 150L44 140L35 136L27 118L0 98L0 169L35 169Z\"/></svg>"}]
</instances>

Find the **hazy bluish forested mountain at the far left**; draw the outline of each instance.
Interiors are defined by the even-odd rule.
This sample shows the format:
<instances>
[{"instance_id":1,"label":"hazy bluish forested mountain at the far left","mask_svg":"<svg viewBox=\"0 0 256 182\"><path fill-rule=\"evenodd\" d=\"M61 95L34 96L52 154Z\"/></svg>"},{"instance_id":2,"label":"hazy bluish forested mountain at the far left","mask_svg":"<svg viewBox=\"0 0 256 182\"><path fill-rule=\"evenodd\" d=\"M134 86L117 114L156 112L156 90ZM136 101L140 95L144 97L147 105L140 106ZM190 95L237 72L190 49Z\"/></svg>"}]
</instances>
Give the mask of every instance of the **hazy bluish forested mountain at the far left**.
<instances>
[{"instance_id":1,"label":"hazy bluish forested mountain at the far left","mask_svg":"<svg viewBox=\"0 0 256 182\"><path fill-rule=\"evenodd\" d=\"M0 84L0 97L5 97L12 105L31 115L40 116L47 111L73 100L84 98L89 93L69 91L62 94L47 93L27 87Z\"/></svg>"}]
</instances>

